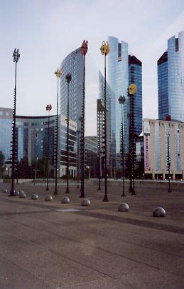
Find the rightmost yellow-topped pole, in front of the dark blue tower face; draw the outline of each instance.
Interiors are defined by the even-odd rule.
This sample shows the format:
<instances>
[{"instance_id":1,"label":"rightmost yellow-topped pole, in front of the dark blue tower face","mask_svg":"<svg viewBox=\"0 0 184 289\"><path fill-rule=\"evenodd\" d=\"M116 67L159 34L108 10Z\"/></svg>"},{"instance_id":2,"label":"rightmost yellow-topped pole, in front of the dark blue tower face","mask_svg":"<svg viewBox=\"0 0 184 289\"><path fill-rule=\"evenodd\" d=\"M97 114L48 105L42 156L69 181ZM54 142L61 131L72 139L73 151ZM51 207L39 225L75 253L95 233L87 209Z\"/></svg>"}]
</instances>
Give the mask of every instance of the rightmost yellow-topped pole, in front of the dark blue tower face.
<instances>
[{"instance_id":1,"label":"rightmost yellow-topped pole, in front of the dark blue tower face","mask_svg":"<svg viewBox=\"0 0 184 289\"><path fill-rule=\"evenodd\" d=\"M134 94L136 93L136 84L130 84L128 88L128 96L130 101L129 114L129 191L131 195L136 195L135 192L135 135L134 135Z\"/></svg>"}]
</instances>

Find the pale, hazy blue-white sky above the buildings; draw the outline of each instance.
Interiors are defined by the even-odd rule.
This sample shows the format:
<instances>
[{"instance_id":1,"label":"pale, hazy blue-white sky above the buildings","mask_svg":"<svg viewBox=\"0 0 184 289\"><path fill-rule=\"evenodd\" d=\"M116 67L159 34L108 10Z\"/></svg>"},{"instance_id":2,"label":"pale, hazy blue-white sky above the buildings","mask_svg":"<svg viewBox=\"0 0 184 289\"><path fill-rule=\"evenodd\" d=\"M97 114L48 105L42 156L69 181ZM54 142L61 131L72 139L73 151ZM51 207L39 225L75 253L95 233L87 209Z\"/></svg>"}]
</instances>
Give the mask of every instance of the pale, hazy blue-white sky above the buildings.
<instances>
[{"instance_id":1,"label":"pale, hazy blue-white sky above the buildings","mask_svg":"<svg viewBox=\"0 0 184 289\"><path fill-rule=\"evenodd\" d=\"M0 106L13 107L18 48L16 113L56 113L54 72L67 54L88 40L86 56L86 135L96 134L97 71L103 72L99 48L108 36L129 44L143 65L143 116L158 118L157 60L167 41L184 30L183 0L0 0ZM107 56L108 57L108 56Z\"/></svg>"}]
</instances>

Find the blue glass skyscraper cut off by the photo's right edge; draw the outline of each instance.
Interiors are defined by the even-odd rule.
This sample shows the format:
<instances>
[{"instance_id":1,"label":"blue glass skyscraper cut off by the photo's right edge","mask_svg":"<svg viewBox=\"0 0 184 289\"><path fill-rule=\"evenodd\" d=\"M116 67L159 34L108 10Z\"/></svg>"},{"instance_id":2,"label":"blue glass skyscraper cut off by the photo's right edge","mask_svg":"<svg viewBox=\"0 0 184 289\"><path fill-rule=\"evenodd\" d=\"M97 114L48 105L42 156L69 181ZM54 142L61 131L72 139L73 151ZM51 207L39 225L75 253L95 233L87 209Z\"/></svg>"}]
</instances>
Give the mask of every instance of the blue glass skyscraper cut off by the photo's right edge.
<instances>
[{"instance_id":1,"label":"blue glass skyscraper cut off by the photo's right edge","mask_svg":"<svg viewBox=\"0 0 184 289\"><path fill-rule=\"evenodd\" d=\"M167 51L158 59L158 118L184 121L184 31L168 39Z\"/></svg>"}]
</instances>

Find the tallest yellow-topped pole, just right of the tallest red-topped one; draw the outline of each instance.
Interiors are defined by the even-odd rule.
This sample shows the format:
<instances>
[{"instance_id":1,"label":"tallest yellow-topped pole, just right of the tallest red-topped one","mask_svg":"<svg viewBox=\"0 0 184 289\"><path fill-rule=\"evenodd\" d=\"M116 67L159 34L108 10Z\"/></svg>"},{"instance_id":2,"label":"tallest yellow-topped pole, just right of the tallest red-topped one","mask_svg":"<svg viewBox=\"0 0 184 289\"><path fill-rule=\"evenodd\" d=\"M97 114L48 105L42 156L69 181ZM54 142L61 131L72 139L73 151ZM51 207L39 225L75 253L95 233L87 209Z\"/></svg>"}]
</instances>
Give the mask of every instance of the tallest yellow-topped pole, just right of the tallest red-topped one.
<instances>
[{"instance_id":1,"label":"tallest yellow-topped pole, just right of the tallest red-topped one","mask_svg":"<svg viewBox=\"0 0 184 289\"><path fill-rule=\"evenodd\" d=\"M101 54L104 55L104 136L102 136L104 143L104 199L103 202L108 202L107 197L107 98L106 98L106 56L109 54L110 48L109 44L106 41L102 42L100 47Z\"/></svg>"}]
</instances>

